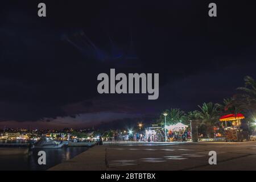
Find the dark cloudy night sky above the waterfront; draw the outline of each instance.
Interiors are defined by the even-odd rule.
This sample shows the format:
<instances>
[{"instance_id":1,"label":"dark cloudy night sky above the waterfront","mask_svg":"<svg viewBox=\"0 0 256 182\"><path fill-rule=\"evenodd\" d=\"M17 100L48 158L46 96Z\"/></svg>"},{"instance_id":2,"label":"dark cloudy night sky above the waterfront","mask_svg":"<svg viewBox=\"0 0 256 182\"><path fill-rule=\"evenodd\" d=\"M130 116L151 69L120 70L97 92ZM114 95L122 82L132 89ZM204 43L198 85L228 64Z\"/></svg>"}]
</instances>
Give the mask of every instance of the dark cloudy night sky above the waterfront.
<instances>
[{"instance_id":1,"label":"dark cloudy night sky above the waterfront","mask_svg":"<svg viewBox=\"0 0 256 182\"><path fill-rule=\"evenodd\" d=\"M164 109L232 97L244 76L256 78L255 9L253 1L1 2L0 127L150 123ZM110 68L159 73L158 100L98 94L97 76Z\"/></svg>"}]
</instances>

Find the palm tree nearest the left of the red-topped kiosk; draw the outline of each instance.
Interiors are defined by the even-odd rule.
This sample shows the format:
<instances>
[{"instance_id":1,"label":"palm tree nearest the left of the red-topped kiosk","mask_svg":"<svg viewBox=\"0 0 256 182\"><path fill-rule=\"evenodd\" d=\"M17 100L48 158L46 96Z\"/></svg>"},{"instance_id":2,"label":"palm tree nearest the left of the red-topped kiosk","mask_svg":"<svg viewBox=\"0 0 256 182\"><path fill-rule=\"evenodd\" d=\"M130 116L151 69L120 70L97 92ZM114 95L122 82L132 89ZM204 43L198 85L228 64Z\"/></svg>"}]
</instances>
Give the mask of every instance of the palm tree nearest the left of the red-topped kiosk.
<instances>
[{"instance_id":1,"label":"palm tree nearest the left of the red-topped kiosk","mask_svg":"<svg viewBox=\"0 0 256 182\"><path fill-rule=\"evenodd\" d=\"M213 137L213 126L218 123L217 107L212 102L204 103L199 106L197 117L201 120L201 125L207 127L207 135L209 138Z\"/></svg>"}]
</instances>

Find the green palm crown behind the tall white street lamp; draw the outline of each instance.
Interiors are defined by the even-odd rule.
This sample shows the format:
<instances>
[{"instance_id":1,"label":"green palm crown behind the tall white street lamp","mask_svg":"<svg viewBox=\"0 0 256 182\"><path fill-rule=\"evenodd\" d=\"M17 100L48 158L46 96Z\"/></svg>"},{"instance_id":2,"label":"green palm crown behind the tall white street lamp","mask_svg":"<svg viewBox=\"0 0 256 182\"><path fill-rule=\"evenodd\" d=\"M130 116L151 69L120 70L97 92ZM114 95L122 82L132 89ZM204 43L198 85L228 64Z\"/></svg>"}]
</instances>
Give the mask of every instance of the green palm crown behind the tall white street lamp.
<instances>
[{"instance_id":1,"label":"green palm crown behind the tall white street lamp","mask_svg":"<svg viewBox=\"0 0 256 182\"><path fill-rule=\"evenodd\" d=\"M166 123L167 125L174 125L178 122L185 122L187 121L187 117L185 115L185 112L180 109L170 109L170 110L164 110L163 113L160 114L160 118L158 119L158 122L160 125L164 125L164 113L167 113L166 117Z\"/></svg>"}]
</instances>

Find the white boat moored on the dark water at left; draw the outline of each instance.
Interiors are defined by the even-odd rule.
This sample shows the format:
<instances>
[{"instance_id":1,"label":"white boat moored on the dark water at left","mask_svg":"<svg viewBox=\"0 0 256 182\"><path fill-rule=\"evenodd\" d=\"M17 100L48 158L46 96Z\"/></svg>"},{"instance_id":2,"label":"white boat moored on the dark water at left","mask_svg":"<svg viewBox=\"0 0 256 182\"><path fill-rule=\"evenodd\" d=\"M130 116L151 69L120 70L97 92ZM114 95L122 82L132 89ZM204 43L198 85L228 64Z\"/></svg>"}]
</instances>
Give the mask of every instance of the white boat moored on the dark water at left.
<instances>
[{"instance_id":1,"label":"white boat moored on the dark water at left","mask_svg":"<svg viewBox=\"0 0 256 182\"><path fill-rule=\"evenodd\" d=\"M65 145L63 142L49 140L48 138L41 138L34 144L33 148L61 148Z\"/></svg>"}]
</instances>

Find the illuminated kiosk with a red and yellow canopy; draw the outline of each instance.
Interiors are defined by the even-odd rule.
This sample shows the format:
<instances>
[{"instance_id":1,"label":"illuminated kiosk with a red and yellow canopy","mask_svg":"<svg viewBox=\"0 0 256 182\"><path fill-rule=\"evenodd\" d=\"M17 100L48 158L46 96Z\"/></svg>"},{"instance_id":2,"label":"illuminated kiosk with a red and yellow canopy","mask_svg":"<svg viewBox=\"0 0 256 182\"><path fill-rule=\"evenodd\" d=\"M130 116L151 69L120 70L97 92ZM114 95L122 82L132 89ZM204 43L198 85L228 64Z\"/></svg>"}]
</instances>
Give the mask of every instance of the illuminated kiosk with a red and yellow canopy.
<instances>
[{"instance_id":1,"label":"illuminated kiosk with a red and yellow canopy","mask_svg":"<svg viewBox=\"0 0 256 182\"><path fill-rule=\"evenodd\" d=\"M220 118L222 127L224 127L225 138L228 142L237 142L243 140L241 126L241 119L245 119L243 114L228 114Z\"/></svg>"}]
</instances>

